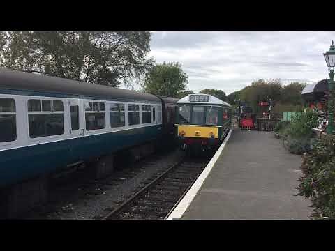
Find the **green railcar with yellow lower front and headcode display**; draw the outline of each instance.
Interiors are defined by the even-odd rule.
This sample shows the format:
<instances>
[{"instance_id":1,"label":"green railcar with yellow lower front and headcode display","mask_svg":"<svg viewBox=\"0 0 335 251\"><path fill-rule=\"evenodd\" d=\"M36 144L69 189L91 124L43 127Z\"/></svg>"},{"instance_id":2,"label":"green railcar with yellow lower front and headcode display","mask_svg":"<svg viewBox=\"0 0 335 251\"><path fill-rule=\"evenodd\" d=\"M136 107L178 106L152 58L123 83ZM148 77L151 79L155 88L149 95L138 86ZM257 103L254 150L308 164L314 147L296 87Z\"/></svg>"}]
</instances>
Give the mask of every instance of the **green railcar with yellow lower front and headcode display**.
<instances>
[{"instance_id":1,"label":"green railcar with yellow lower front and headcode display","mask_svg":"<svg viewBox=\"0 0 335 251\"><path fill-rule=\"evenodd\" d=\"M190 94L177 102L177 137L183 150L216 149L229 132L231 106L208 94Z\"/></svg>"}]
</instances>

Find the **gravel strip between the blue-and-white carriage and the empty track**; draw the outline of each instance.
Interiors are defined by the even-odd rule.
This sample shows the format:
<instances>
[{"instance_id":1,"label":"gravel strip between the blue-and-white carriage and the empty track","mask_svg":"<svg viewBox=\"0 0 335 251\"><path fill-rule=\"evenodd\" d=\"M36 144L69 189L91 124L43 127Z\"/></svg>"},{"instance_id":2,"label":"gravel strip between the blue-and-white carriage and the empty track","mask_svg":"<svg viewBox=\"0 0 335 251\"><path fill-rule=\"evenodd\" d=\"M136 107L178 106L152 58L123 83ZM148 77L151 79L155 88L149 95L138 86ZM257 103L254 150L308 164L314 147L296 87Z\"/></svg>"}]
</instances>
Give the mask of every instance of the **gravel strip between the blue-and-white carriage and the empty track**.
<instances>
[{"instance_id":1,"label":"gravel strip between the blue-and-white carriage and the empty track","mask_svg":"<svg viewBox=\"0 0 335 251\"><path fill-rule=\"evenodd\" d=\"M156 153L101 181L91 180L87 177L87 169L79 169L51 190L50 202L46 206L20 218L101 219L140 190L145 182L172 167L183 154L179 149Z\"/></svg>"}]
</instances>

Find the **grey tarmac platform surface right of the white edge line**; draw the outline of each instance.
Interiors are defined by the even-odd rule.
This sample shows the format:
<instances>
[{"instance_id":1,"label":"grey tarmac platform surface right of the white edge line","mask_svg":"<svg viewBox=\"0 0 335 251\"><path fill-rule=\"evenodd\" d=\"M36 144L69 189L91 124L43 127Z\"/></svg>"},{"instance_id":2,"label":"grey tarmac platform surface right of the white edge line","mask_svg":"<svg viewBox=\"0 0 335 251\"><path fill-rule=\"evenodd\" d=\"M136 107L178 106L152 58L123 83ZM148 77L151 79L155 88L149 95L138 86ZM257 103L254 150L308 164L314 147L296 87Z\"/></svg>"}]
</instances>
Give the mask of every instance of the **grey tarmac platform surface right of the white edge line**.
<instances>
[{"instance_id":1,"label":"grey tarmac platform surface right of the white edge line","mask_svg":"<svg viewBox=\"0 0 335 251\"><path fill-rule=\"evenodd\" d=\"M308 219L300 165L273 132L235 129L181 219Z\"/></svg>"}]
</instances>

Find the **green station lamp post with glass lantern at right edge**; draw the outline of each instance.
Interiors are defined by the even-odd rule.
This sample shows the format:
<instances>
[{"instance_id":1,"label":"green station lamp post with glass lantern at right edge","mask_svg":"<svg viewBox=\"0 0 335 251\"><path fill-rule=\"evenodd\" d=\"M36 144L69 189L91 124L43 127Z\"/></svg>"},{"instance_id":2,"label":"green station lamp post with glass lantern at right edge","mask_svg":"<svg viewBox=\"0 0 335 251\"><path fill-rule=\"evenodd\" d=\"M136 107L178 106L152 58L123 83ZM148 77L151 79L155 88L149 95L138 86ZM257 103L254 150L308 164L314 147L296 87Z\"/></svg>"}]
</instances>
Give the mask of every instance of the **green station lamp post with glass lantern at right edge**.
<instances>
[{"instance_id":1,"label":"green station lamp post with glass lantern at right edge","mask_svg":"<svg viewBox=\"0 0 335 251\"><path fill-rule=\"evenodd\" d=\"M329 96L328 96L328 126L327 133L332 134L333 132L333 123L334 123L334 97L333 97L333 86L334 86L334 68L335 68L335 45L334 41L332 41L332 45L330 45L330 49L328 52L323 54L325 56L325 60L327 66L329 68Z\"/></svg>"}]
</instances>

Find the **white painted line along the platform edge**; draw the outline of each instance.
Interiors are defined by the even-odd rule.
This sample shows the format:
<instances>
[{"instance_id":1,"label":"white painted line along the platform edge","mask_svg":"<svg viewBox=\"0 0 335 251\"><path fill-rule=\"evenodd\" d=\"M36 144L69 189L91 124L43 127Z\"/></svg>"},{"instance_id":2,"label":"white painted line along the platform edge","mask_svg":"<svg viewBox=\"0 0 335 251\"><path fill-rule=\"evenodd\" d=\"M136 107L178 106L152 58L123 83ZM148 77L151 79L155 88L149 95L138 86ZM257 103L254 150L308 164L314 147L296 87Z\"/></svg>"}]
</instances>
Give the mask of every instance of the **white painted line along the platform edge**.
<instances>
[{"instance_id":1,"label":"white painted line along the platform edge","mask_svg":"<svg viewBox=\"0 0 335 251\"><path fill-rule=\"evenodd\" d=\"M230 135L232 134L232 130L228 132L227 137L225 137L225 140L221 144L221 146L218 148L218 151L216 151L213 158L211 158L211 161L207 164L207 166L204 168L204 171L198 179L193 183L192 187L183 199L179 202L179 204L174 208L174 211L170 213L169 217L166 220L173 220L173 219L179 219L181 216L185 213L188 206L190 206L191 202L193 201L195 195L197 195L198 191L200 190L202 184L204 183L204 180L207 178L209 172L211 172L211 169L214 167L214 164L216 160L218 160L218 156L220 156L223 148L225 147L225 144L228 142L228 139L230 138Z\"/></svg>"}]
</instances>

